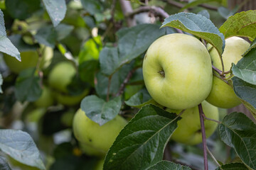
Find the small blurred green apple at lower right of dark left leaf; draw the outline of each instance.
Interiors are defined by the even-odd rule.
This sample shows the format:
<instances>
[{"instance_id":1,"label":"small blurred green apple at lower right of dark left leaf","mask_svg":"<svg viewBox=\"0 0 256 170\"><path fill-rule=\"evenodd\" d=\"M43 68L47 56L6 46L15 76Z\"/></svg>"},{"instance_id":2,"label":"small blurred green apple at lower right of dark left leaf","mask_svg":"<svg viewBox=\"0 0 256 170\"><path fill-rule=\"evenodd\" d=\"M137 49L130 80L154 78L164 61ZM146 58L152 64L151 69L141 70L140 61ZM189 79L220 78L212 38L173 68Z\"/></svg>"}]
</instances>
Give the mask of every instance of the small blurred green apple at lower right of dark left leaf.
<instances>
[{"instance_id":1,"label":"small blurred green apple at lower right of dark left leaf","mask_svg":"<svg viewBox=\"0 0 256 170\"><path fill-rule=\"evenodd\" d=\"M35 106L48 108L49 106L52 106L53 103L54 103L54 100L53 100L53 94L51 90L47 86L43 86L43 92L40 98L38 98L34 102Z\"/></svg>"}]
</instances>

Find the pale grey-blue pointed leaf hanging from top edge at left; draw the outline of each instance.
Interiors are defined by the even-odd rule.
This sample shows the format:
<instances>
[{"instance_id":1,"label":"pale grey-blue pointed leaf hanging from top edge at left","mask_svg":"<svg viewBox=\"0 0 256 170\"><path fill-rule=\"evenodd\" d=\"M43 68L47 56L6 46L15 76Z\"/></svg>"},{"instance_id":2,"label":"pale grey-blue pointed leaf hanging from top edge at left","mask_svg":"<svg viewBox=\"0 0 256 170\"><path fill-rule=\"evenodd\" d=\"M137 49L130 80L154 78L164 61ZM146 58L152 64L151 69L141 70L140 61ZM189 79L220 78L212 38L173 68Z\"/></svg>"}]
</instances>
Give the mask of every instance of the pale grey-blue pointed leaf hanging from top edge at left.
<instances>
[{"instance_id":1,"label":"pale grey-blue pointed leaf hanging from top edge at left","mask_svg":"<svg viewBox=\"0 0 256 170\"><path fill-rule=\"evenodd\" d=\"M50 16L53 26L58 26L60 21L65 17L67 11L65 0L43 0L43 4L46 7L46 11Z\"/></svg>"}]
</instances>

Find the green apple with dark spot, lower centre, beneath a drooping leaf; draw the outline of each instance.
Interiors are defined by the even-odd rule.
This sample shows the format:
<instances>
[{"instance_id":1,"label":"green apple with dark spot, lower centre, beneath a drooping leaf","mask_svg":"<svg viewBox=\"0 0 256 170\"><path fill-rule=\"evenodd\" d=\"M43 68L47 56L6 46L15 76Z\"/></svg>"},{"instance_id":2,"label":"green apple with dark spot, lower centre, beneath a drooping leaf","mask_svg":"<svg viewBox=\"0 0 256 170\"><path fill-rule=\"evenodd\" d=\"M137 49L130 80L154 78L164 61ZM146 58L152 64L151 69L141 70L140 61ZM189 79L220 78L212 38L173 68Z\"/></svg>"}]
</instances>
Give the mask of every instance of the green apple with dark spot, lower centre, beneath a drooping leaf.
<instances>
[{"instance_id":1,"label":"green apple with dark spot, lower centre, beneath a drooping leaf","mask_svg":"<svg viewBox=\"0 0 256 170\"><path fill-rule=\"evenodd\" d=\"M85 112L79 109L73 120L73 132L79 142L106 154L125 125L127 120L117 115L113 120L100 126L87 118Z\"/></svg>"}]
</instances>

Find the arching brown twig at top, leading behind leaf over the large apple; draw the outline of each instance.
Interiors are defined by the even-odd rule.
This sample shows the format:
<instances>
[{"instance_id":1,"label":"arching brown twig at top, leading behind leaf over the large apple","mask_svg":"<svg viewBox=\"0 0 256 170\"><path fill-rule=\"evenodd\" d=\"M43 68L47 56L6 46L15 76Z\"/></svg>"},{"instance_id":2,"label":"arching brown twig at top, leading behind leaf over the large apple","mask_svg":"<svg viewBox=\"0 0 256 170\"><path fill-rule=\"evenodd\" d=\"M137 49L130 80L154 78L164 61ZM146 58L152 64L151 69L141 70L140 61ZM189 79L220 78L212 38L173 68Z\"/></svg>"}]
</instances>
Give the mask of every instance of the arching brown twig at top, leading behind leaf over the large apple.
<instances>
[{"instance_id":1,"label":"arching brown twig at top, leading behind leaf over the large apple","mask_svg":"<svg viewBox=\"0 0 256 170\"><path fill-rule=\"evenodd\" d=\"M157 7L157 6L142 6L140 8L135 9L134 11L127 13L126 17L132 18L134 15L138 13L143 13L143 12L154 12L155 16L161 16L162 18L168 18L169 14L166 13L162 8ZM183 33L182 30L179 30L178 28L174 28L178 33Z\"/></svg>"}]
</instances>

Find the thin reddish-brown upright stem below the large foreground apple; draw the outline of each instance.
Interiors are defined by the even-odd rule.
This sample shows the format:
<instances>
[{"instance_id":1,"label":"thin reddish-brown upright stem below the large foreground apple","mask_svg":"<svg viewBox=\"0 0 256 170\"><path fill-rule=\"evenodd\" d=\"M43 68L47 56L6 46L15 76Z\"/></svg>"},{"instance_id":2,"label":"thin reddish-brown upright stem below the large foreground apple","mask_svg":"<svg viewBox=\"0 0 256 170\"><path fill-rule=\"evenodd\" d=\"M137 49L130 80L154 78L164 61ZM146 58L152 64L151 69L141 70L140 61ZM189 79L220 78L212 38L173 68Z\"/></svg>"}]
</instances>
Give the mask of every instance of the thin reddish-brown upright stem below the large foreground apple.
<instances>
[{"instance_id":1,"label":"thin reddish-brown upright stem below the large foreground apple","mask_svg":"<svg viewBox=\"0 0 256 170\"><path fill-rule=\"evenodd\" d=\"M200 116L200 123L201 123L201 132L202 132L202 139L203 139L203 163L204 163L204 169L208 170L208 161L207 161L207 145L206 145L206 130L205 125L203 121L203 108L202 104L200 103L198 105L199 110L199 116Z\"/></svg>"}]
</instances>

